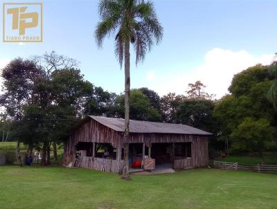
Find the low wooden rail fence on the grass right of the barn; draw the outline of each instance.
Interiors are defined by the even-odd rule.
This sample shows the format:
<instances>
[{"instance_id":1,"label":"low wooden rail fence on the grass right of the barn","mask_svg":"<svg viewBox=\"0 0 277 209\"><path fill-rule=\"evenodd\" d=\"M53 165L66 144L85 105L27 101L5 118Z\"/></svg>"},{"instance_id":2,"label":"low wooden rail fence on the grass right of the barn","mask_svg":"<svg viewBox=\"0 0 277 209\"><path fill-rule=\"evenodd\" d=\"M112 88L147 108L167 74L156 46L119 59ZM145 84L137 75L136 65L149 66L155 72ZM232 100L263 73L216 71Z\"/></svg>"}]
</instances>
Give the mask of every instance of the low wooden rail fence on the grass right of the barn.
<instances>
[{"instance_id":1,"label":"low wooden rail fence on the grass right of the barn","mask_svg":"<svg viewBox=\"0 0 277 209\"><path fill-rule=\"evenodd\" d=\"M224 162L224 161L213 161L213 165L220 169L226 170L249 170L254 172L267 172L277 173L277 165L266 165L266 164L238 164L238 162Z\"/></svg>"}]
</instances>

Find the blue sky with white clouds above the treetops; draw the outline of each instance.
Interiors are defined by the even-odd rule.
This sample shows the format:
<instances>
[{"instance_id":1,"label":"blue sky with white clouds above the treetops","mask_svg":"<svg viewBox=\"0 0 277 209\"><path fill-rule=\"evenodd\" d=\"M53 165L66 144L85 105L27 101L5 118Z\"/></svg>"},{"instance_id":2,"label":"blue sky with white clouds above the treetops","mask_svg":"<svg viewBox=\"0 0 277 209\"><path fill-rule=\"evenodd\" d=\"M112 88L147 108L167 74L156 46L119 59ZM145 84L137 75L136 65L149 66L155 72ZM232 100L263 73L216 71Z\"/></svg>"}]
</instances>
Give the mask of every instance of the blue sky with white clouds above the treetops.
<instances>
[{"instance_id":1,"label":"blue sky with white clouds above the treetops","mask_svg":"<svg viewBox=\"0 0 277 209\"><path fill-rule=\"evenodd\" d=\"M56 51L80 61L84 78L96 86L122 92L124 71L114 55L114 37L105 39L99 49L93 36L98 1L42 3L44 42L1 42L0 66L15 57ZM157 0L154 4L164 28L163 41L137 67L131 54L132 88L149 87L160 95L185 93L189 82L202 80L209 93L220 97L227 93L233 73L258 62L269 64L277 52L277 1Z\"/></svg>"}]
</instances>

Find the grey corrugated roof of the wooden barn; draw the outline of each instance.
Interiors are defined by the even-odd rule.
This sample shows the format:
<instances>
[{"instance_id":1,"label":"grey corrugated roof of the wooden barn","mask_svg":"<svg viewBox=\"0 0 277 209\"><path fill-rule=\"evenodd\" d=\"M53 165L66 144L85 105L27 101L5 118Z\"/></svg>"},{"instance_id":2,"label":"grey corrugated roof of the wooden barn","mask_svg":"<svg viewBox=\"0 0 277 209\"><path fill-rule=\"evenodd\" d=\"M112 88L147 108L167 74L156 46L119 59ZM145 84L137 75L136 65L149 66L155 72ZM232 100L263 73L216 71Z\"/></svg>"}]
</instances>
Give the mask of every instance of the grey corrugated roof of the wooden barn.
<instances>
[{"instance_id":1,"label":"grey corrugated roof of the wooden barn","mask_svg":"<svg viewBox=\"0 0 277 209\"><path fill-rule=\"evenodd\" d=\"M101 116L89 116L115 131L124 131L124 119L122 118L106 118ZM130 120L130 133L161 133L161 134L196 134L211 135L207 131L202 131L189 125L166 123L166 122L149 122L140 120Z\"/></svg>"}]
</instances>

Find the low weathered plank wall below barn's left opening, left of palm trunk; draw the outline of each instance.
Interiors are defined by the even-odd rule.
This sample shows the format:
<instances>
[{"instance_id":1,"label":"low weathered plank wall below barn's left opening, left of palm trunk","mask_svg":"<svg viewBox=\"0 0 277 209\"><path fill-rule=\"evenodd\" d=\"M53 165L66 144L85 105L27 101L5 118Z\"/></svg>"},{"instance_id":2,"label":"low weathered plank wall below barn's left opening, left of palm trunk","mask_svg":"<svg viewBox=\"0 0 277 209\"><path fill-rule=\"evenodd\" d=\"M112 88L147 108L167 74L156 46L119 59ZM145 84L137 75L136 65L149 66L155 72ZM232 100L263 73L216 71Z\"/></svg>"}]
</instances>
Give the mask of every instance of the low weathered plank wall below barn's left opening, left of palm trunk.
<instances>
[{"instance_id":1,"label":"low weathered plank wall below barn's left opening, left of palm trunk","mask_svg":"<svg viewBox=\"0 0 277 209\"><path fill-rule=\"evenodd\" d=\"M123 170L123 161L82 156L80 167L101 170L103 172L120 173Z\"/></svg>"}]
</instances>

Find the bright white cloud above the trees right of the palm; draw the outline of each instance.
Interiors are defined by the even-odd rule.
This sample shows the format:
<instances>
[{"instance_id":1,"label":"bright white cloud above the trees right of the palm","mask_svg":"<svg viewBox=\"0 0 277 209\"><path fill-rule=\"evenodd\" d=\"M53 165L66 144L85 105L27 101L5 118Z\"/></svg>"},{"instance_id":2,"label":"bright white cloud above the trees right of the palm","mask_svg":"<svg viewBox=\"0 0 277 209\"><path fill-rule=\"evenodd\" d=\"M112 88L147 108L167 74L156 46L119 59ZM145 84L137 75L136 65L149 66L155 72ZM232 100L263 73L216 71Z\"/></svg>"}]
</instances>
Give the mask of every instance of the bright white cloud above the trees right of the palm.
<instances>
[{"instance_id":1,"label":"bright white cloud above the trees right of the palm","mask_svg":"<svg viewBox=\"0 0 277 209\"><path fill-rule=\"evenodd\" d=\"M192 71L186 71L179 75L161 75L159 82L152 84L151 89L160 95L168 92L184 94L188 84L200 80L206 85L206 91L213 93L216 98L221 98L228 93L233 75L249 66L256 64L270 64L274 55L251 55L247 51L231 51L222 48L213 48L204 56L204 63L195 66ZM162 85L166 81L166 85ZM159 83L159 84L158 84Z\"/></svg>"}]
</instances>

